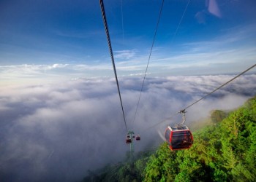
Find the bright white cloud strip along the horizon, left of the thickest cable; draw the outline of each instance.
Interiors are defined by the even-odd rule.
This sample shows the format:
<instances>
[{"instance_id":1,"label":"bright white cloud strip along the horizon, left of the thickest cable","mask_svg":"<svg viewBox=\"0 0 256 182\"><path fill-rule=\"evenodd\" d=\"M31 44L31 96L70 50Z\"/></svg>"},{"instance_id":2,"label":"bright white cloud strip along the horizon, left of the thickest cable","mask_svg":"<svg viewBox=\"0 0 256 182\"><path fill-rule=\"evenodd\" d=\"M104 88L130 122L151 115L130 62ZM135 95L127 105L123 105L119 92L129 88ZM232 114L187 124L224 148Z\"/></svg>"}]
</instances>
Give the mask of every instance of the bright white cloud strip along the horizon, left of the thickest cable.
<instances>
[{"instance_id":1,"label":"bright white cloud strip along the horizon, left of the thickest cable","mask_svg":"<svg viewBox=\"0 0 256 182\"><path fill-rule=\"evenodd\" d=\"M113 75L111 64L23 64L17 66L0 66L0 86L10 84L36 84L49 82L64 82L77 77L95 77L102 74Z\"/></svg>"}]
</instances>

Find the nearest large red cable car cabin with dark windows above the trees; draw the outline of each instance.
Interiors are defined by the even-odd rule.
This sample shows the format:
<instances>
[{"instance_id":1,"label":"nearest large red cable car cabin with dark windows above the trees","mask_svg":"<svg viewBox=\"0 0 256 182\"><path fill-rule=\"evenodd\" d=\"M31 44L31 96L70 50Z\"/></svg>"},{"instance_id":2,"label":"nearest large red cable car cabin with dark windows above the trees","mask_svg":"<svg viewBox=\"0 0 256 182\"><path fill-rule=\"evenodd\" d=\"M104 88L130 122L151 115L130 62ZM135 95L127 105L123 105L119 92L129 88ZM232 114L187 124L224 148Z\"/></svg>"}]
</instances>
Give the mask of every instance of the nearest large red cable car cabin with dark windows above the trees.
<instances>
[{"instance_id":1,"label":"nearest large red cable car cabin with dark windows above the trees","mask_svg":"<svg viewBox=\"0 0 256 182\"><path fill-rule=\"evenodd\" d=\"M165 130L165 139L172 151L189 149L193 144L193 135L186 125L168 126Z\"/></svg>"}]
</instances>

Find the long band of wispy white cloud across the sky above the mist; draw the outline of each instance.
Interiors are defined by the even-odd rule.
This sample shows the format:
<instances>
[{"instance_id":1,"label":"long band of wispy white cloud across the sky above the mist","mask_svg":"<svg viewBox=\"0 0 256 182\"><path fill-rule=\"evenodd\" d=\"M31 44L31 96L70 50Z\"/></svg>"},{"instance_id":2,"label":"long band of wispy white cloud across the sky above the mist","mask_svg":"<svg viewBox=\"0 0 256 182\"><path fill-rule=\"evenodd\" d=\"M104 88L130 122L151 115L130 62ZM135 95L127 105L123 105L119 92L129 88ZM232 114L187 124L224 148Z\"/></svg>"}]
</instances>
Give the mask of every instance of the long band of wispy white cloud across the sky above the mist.
<instances>
[{"instance_id":1,"label":"long band of wispy white cloud across the sky above the mist","mask_svg":"<svg viewBox=\"0 0 256 182\"><path fill-rule=\"evenodd\" d=\"M256 47L252 39L256 25L237 26L222 30L221 35L208 41L181 43L155 47L148 71L156 76L230 74L241 72L255 64ZM178 54L176 54L178 49ZM119 50L114 52L118 75L143 74L148 62L148 52ZM108 60L106 62L106 59ZM80 62L81 63L81 62ZM53 63L0 66L1 85L9 83L48 82L70 80L78 77L113 76L109 55L97 63ZM243 68L244 67L244 68ZM243 68L243 69L241 69Z\"/></svg>"}]
</instances>

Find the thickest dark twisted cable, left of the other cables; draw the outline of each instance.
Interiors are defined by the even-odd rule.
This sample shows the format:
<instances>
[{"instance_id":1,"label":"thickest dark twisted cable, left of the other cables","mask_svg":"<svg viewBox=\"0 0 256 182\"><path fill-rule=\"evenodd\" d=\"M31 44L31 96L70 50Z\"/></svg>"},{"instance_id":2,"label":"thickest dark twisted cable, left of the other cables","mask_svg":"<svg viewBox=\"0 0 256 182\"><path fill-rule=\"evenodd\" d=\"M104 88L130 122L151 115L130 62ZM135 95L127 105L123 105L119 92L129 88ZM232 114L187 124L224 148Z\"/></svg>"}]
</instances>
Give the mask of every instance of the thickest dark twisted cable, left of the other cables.
<instances>
[{"instance_id":1,"label":"thickest dark twisted cable, left of the other cables","mask_svg":"<svg viewBox=\"0 0 256 182\"><path fill-rule=\"evenodd\" d=\"M99 5L100 5L100 9L102 11L102 20L103 20L103 23L104 23L105 32L106 32L106 36L107 36L107 39L108 39L108 48L109 48L109 51L110 51L110 57L111 57L112 64L113 64L113 70L114 70L114 73L115 73L115 76L116 76L116 85L117 85L119 99L120 99L120 103L121 103L121 109L123 111L123 116L124 116L124 107L123 107L123 103L121 101L121 93L120 93L118 79L117 79L117 74L116 74L115 60L114 60L114 57L113 57L113 50L112 50L112 46L111 46L110 35L109 35L109 31L108 31L107 17L105 15L105 9L104 9L103 0L99 0ZM127 122L125 120L125 116L124 116L124 124L125 124L125 128L126 128L126 130L128 132Z\"/></svg>"}]
</instances>

